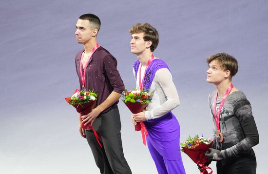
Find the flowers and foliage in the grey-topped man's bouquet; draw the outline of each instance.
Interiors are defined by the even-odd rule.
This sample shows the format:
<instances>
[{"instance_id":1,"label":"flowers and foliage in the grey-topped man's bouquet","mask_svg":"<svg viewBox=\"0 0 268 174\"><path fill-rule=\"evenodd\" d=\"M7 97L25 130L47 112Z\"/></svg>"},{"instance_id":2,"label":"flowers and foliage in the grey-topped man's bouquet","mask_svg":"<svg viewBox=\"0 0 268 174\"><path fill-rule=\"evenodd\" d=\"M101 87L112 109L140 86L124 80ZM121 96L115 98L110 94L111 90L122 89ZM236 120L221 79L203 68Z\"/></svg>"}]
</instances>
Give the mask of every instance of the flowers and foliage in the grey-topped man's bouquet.
<instances>
[{"instance_id":1,"label":"flowers and foliage in the grey-topped man's bouquet","mask_svg":"<svg viewBox=\"0 0 268 174\"><path fill-rule=\"evenodd\" d=\"M188 139L184 143L180 143L182 147L188 148L188 149L194 149L197 146L199 146L201 143L210 144L212 140L207 140L203 137L203 135L195 135L194 137L191 137L189 135ZM183 149L181 148L181 151L183 152Z\"/></svg>"}]
</instances>

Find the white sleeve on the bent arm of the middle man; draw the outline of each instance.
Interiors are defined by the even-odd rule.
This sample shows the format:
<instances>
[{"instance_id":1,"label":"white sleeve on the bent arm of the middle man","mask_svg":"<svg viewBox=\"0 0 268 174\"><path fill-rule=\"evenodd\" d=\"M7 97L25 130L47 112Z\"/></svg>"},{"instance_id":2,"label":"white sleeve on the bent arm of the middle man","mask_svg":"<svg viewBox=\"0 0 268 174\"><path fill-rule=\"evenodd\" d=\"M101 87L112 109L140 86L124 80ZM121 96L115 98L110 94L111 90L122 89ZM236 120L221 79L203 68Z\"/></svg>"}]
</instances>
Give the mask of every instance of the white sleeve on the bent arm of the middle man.
<instances>
[{"instance_id":1,"label":"white sleeve on the bent arm of the middle man","mask_svg":"<svg viewBox=\"0 0 268 174\"><path fill-rule=\"evenodd\" d=\"M159 69L158 71L156 71L155 77L157 82L163 89L167 100L160 106L155 107L150 111L146 111L146 119L154 119L160 116L164 116L180 104L179 95L172 81L172 75L170 71L167 68Z\"/></svg>"}]
</instances>

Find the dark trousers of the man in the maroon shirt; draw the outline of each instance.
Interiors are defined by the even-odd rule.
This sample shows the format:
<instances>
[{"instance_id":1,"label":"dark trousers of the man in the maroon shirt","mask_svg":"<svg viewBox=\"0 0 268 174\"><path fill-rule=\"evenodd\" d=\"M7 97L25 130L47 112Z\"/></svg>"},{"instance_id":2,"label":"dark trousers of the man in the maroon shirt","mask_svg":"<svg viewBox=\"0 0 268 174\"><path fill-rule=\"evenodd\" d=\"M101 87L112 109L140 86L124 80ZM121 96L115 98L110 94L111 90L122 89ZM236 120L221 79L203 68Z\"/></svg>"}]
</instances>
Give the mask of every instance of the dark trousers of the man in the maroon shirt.
<instances>
[{"instance_id":1,"label":"dark trousers of the man in the maroon shirt","mask_svg":"<svg viewBox=\"0 0 268 174\"><path fill-rule=\"evenodd\" d=\"M124 157L121 141L121 121L117 106L96 117L93 122L96 133L101 137L101 148L92 129L86 137L101 174L132 174Z\"/></svg>"}]
</instances>

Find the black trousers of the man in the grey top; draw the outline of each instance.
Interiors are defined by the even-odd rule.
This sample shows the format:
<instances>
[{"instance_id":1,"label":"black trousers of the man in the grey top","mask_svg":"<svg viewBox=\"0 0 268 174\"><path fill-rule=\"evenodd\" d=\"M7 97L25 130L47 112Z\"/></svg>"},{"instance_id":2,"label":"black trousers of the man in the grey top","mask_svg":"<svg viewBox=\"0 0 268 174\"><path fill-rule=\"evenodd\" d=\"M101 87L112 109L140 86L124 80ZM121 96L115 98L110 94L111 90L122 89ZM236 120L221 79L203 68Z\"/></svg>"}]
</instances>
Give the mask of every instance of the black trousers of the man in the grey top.
<instances>
[{"instance_id":1,"label":"black trousers of the man in the grey top","mask_svg":"<svg viewBox=\"0 0 268 174\"><path fill-rule=\"evenodd\" d=\"M251 149L249 154L217 161L217 174L256 174L256 157Z\"/></svg>"}]
</instances>

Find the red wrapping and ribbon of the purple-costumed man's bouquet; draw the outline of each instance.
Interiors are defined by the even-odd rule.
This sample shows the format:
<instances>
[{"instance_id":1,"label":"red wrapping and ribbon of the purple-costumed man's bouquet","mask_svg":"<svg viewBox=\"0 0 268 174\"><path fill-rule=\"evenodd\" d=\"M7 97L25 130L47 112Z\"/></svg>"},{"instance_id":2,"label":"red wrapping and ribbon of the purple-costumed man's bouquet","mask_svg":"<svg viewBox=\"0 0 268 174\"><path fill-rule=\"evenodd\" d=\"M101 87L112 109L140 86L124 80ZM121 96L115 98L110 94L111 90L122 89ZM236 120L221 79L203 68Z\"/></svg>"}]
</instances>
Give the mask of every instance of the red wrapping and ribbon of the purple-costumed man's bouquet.
<instances>
[{"instance_id":1,"label":"red wrapping and ribbon of the purple-costumed man's bouquet","mask_svg":"<svg viewBox=\"0 0 268 174\"><path fill-rule=\"evenodd\" d=\"M149 103L140 104L140 103L127 102L125 104L129 108L129 110L132 112L132 114L137 114L137 113L140 113L142 110L144 110L148 106ZM142 141L143 141L143 144L146 146L145 136L148 136L148 131L144 123L138 122L137 125L135 126L135 131L141 131Z\"/></svg>"}]
</instances>

